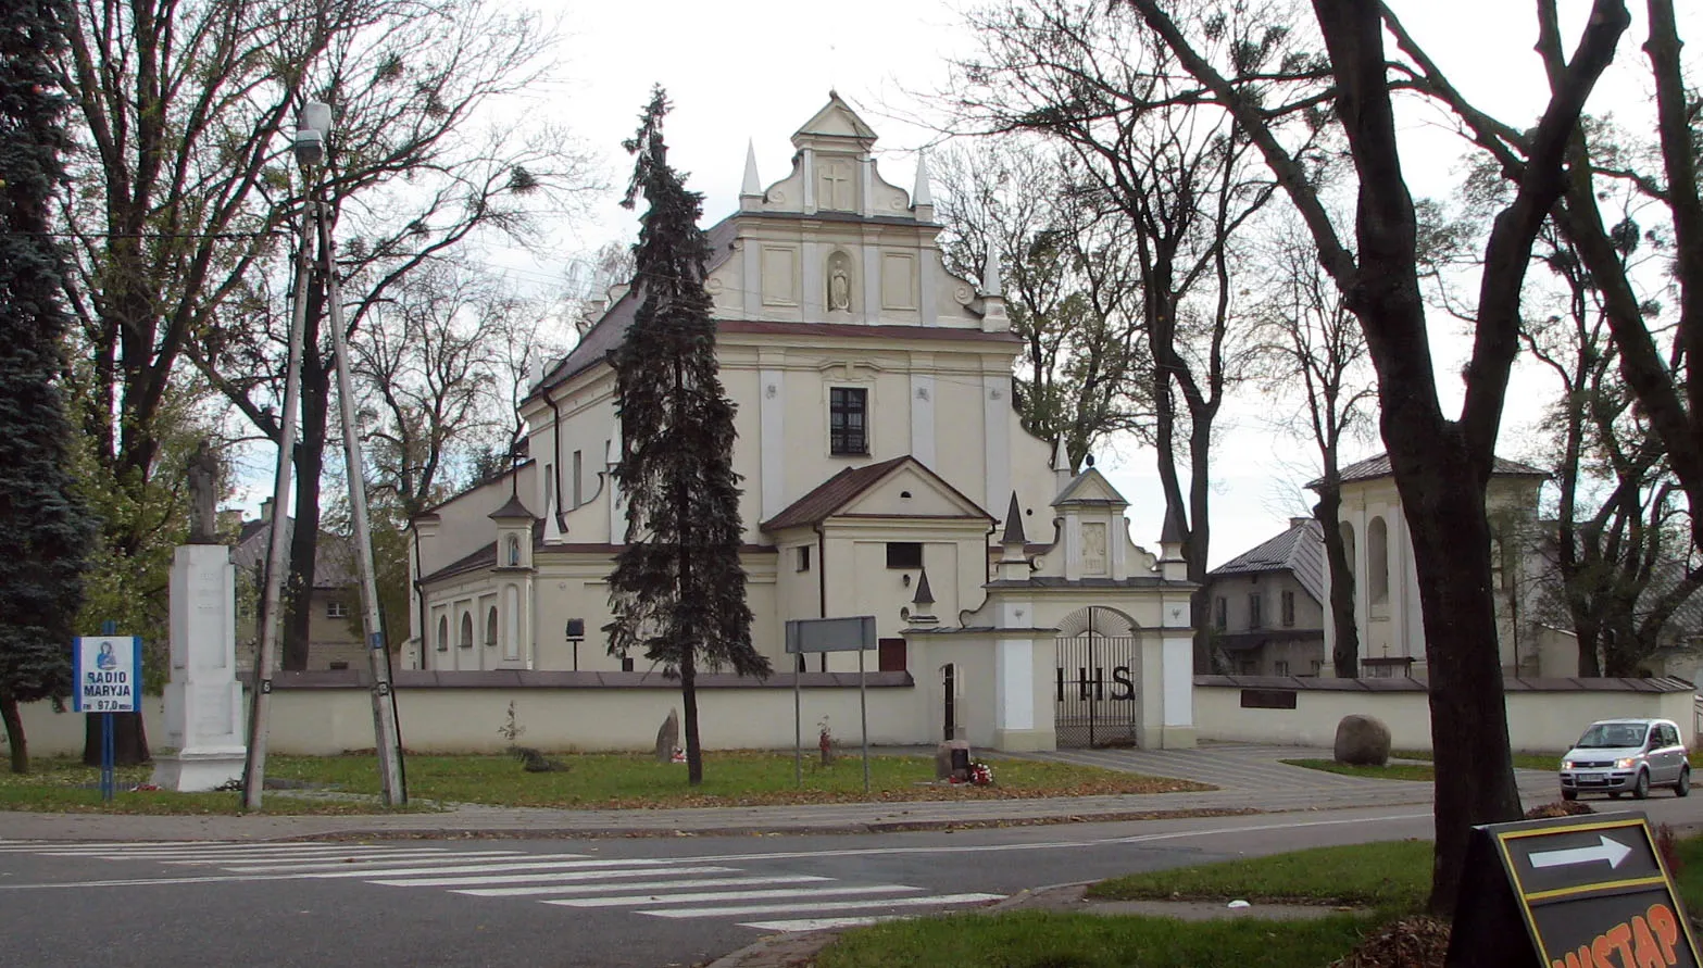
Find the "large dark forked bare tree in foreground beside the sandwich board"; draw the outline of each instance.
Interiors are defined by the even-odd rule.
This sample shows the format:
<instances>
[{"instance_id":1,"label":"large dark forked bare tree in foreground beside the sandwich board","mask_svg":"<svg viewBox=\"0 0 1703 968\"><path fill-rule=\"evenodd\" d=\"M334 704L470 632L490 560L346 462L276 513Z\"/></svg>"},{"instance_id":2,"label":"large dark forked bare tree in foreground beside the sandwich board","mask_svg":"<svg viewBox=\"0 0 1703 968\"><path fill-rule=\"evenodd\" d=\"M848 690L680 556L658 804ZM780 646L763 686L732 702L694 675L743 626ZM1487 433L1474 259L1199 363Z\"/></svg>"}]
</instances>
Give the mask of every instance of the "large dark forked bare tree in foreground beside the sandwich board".
<instances>
[{"instance_id":1,"label":"large dark forked bare tree in foreground beside the sandwich board","mask_svg":"<svg viewBox=\"0 0 1703 968\"><path fill-rule=\"evenodd\" d=\"M1320 262L1366 332L1378 371L1381 425L1407 512L1420 590L1436 750L1436 869L1431 908L1448 914L1473 823L1517 818L1507 743L1507 711L1490 595L1490 524L1485 492L1495 459L1509 371L1519 352L1519 306L1533 240L1565 191L1563 160L1597 78L1614 58L1630 17L1621 0L1596 0L1553 94L1509 168L1512 201L1485 242L1473 356L1458 419L1442 412L1419 279L1419 219L1402 172L1391 85L1448 82L1395 15L1376 3L1315 0L1315 20L1330 54L1325 83L1296 83L1274 97L1269 77L1230 60L1209 60L1213 19L1178 22L1160 0L1129 0L1199 83L1199 99L1238 117L1296 209ZM1540 9L1553 3L1540 0ZM1187 27L1187 32L1185 32ZM1405 61L1391 60L1385 32ZM1332 218L1304 162L1277 119L1333 102L1359 180L1354 245Z\"/></svg>"}]
</instances>

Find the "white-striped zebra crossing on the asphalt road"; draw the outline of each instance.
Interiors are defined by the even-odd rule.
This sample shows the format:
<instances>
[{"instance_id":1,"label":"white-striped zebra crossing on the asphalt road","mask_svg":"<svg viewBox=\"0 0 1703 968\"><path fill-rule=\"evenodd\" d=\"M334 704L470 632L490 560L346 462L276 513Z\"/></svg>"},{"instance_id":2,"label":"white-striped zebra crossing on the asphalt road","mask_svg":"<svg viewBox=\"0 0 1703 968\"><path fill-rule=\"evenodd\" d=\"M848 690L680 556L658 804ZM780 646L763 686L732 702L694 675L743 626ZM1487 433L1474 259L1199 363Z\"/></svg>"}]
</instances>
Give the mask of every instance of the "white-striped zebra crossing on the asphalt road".
<instances>
[{"instance_id":1,"label":"white-striped zebra crossing on the asphalt road","mask_svg":"<svg viewBox=\"0 0 1703 968\"><path fill-rule=\"evenodd\" d=\"M359 880L385 888L436 888L470 898L519 898L560 908L627 908L661 919L732 919L770 932L819 931L916 917L1001 900L995 893L930 893L897 883L850 883L795 871L754 871L729 857L618 859L528 851L462 851L412 844L0 840L0 854L150 861L218 871L206 880ZM186 883L138 878L112 883Z\"/></svg>"}]
</instances>

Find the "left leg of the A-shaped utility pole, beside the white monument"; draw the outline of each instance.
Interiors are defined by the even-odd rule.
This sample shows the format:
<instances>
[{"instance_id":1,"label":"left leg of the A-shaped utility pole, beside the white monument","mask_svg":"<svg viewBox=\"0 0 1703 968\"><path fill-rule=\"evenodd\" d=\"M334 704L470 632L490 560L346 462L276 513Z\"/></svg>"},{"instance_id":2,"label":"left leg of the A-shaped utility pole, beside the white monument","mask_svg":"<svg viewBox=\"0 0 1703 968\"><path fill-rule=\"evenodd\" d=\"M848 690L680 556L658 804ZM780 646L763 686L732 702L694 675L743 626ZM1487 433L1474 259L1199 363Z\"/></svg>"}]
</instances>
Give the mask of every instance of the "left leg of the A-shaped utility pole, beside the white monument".
<instances>
[{"instance_id":1,"label":"left leg of the A-shaped utility pole, beside the white monument","mask_svg":"<svg viewBox=\"0 0 1703 968\"><path fill-rule=\"evenodd\" d=\"M284 570L290 568L290 470L296 451L296 408L301 391L301 339L308 318L308 284L312 282L313 204L301 211L301 252L296 253L296 305L290 313L290 364L284 369L284 412L278 424L278 470L272 475L272 529L266 553L266 590L261 599L261 648L254 657L254 696L249 703L249 762L242 771L244 810L261 808L266 786L266 737L272 706L272 665L278 662L278 636L283 629Z\"/></svg>"}]
</instances>

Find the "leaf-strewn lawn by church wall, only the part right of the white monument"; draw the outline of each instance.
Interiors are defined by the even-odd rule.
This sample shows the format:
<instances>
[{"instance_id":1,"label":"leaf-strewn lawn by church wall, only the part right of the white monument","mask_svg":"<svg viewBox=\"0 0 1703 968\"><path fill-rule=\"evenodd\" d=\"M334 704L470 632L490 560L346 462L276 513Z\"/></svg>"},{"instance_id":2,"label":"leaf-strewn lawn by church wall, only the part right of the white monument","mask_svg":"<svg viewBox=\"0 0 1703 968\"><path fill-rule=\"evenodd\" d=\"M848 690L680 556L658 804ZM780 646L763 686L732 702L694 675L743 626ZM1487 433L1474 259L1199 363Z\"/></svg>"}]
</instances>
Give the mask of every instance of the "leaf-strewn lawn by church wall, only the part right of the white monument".
<instances>
[{"instance_id":1,"label":"leaf-strewn lawn by church wall, only the part right of the white monument","mask_svg":"<svg viewBox=\"0 0 1703 968\"><path fill-rule=\"evenodd\" d=\"M749 806L773 803L855 803L863 800L863 760L843 755L823 767L804 760L799 789L792 754L710 752L703 755L703 786L686 786L685 764L656 762L647 754L557 754L567 769L525 772L507 755L410 755L409 796L451 803L564 808ZM991 760L995 784L937 786L933 757L870 757L874 800L1015 800L1090 796L1105 793L1170 793L1211 789L1199 783L1114 772L1058 762ZM378 793L370 757L276 757L269 776L330 783L341 789Z\"/></svg>"}]
</instances>

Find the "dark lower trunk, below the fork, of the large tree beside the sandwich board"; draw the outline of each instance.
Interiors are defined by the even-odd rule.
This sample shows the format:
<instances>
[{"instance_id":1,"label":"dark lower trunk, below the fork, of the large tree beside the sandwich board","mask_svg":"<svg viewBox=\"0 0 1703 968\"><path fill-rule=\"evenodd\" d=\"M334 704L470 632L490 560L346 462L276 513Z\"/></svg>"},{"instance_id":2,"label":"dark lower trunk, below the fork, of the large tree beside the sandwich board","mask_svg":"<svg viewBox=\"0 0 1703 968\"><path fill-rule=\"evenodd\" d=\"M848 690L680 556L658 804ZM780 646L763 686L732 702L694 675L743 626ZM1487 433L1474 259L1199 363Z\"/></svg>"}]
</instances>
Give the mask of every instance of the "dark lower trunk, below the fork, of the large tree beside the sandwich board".
<instances>
[{"instance_id":1,"label":"dark lower trunk, below the fork, of the large tree beside the sandwich board","mask_svg":"<svg viewBox=\"0 0 1703 968\"><path fill-rule=\"evenodd\" d=\"M1454 444L1454 442L1451 442ZM1436 854L1431 912L1454 912L1475 823L1517 820L1502 662L1490 589L1490 522L1483 485L1458 444L1417 446L1396 476L1407 509L1436 750ZM1444 783L1442 777L1449 777Z\"/></svg>"}]
</instances>

